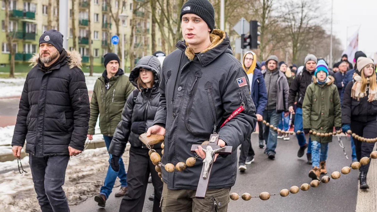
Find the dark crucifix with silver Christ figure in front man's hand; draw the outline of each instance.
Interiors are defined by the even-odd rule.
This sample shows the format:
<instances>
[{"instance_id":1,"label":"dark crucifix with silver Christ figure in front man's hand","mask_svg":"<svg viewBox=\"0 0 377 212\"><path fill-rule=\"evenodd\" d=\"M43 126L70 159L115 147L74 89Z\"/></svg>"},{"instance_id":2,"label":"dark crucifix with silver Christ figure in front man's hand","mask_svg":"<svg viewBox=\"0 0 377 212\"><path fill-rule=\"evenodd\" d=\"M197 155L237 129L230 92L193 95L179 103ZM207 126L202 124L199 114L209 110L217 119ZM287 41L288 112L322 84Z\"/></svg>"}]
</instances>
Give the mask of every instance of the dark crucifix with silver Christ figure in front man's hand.
<instances>
[{"instance_id":1,"label":"dark crucifix with silver Christ figure in front man's hand","mask_svg":"<svg viewBox=\"0 0 377 212\"><path fill-rule=\"evenodd\" d=\"M220 155L230 155L232 152L231 146L218 146L219 135L211 134L208 145L199 145L193 144L191 147L191 152L195 153L195 149L198 149L199 146L202 147L205 152L205 158L203 160L202 172L200 174L198 188L196 189L195 197L198 199L204 199L205 194L208 189L208 182L211 176L212 164L215 158L215 153Z\"/></svg>"}]
</instances>

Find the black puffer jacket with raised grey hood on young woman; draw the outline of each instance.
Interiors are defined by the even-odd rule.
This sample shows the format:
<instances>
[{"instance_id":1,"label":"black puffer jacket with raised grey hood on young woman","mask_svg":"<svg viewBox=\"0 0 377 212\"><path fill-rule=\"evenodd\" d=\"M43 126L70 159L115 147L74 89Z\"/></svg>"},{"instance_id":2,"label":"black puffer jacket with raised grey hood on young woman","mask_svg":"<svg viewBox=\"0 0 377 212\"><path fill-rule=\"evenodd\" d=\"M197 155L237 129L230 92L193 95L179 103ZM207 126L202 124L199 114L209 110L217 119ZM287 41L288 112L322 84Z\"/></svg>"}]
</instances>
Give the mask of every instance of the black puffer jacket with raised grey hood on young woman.
<instances>
[{"instance_id":1,"label":"black puffer jacket with raised grey hood on young woman","mask_svg":"<svg viewBox=\"0 0 377 212\"><path fill-rule=\"evenodd\" d=\"M158 91L160 62L155 56L146 56L141 58L136 64L135 68L130 73L130 82L138 89L135 80L139 77L140 69L152 70L155 75L154 84L152 88L141 88L138 95L134 96L135 92L131 92L127 98L126 104L122 112L122 120L116 126L113 140L109 148L109 153L120 156L124 153L127 141L133 147L147 148L140 140L139 135L146 132L153 124L155 118L160 93ZM137 131L136 125L146 124L142 131ZM154 149L161 148L161 144L155 144Z\"/></svg>"}]
</instances>

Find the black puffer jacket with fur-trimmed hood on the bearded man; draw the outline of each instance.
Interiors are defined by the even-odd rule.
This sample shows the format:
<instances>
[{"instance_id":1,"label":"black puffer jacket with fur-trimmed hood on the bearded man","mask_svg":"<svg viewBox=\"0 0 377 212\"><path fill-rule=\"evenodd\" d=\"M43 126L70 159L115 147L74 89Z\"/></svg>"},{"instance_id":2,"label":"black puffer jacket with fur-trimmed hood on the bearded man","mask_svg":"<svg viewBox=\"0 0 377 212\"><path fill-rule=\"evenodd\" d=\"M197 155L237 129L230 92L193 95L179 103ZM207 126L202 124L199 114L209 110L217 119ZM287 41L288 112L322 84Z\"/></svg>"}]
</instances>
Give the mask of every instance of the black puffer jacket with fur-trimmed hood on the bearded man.
<instances>
[{"instance_id":1,"label":"black puffer jacket with fur-trimmed hood on the bearded man","mask_svg":"<svg viewBox=\"0 0 377 212\"><path fill-rule=\"evenodd\" d=\"M35 157L69 155L68 146L84 149L90 117L81 57L63 50L57 63L41 66L39 54L26 76L12 146Z\"/></svg>"}]
</instances>

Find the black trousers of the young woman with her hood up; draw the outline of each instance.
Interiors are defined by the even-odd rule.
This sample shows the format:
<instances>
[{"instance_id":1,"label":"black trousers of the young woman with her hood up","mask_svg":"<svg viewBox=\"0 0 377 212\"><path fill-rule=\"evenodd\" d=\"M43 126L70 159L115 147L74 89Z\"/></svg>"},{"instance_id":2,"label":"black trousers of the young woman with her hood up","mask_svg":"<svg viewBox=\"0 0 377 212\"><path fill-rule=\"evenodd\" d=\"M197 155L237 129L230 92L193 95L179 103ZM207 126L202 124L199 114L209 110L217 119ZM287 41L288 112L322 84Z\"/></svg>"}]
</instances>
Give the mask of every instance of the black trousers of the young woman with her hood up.
<instances>
[{"instance_id":1,"label":"black trousers of the young woman with her hood up","mask_svg":"<svg viewBox=\"0 0 377 212\"><path fill-rule=\"evenodd\" d=\"M162 156L162 149L155 149ZM155 170L155 165L149 159L149 149L130 148L130 160L127 171L128 190L124 195L119 212L142 212L147 191L149 174L152 175L152 184L155 188L153 212L161 212L160 201L164 184ZM164 168L164 167L161 167Z\"/></svg>"}]
</instances>

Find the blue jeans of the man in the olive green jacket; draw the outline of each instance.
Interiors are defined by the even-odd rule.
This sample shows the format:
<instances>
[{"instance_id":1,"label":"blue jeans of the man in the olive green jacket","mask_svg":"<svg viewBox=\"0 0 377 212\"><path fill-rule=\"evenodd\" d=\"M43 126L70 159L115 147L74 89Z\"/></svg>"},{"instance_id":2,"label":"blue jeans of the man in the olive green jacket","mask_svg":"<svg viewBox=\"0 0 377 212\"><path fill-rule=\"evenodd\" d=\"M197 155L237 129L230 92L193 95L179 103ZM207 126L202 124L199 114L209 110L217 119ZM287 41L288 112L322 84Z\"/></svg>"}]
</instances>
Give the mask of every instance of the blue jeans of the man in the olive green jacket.
<instances>
[{"instance_id":1,"label":"blue jeans of the man in the olive green jacket","mask_svg":"<svg viewBox=\"0 0 377 212\"><path fill-rule=\"evenodd\" d=\"M109 151L110 143L111 143L111 140L113 140L113 137L104 135L103 139L105 140L107 151ZM109 168L107 168L107 174L106 174L106 177L105 177L105 181L103 183L103 186L101 187L101 192L100 192L101 194L106 196L106 199L109 198L109 195L111 194L111 191L113 190L116 177L119 177L121 187L127 186L127 180L126 180L127 179L127 173L126 173L126 170L124 169L122 157L119 158L119 172L116 172L110 166L110 159L111 159L112 155L111 154L109 154L109 155L110 155Z\"/></svg>"}]
</instances>

